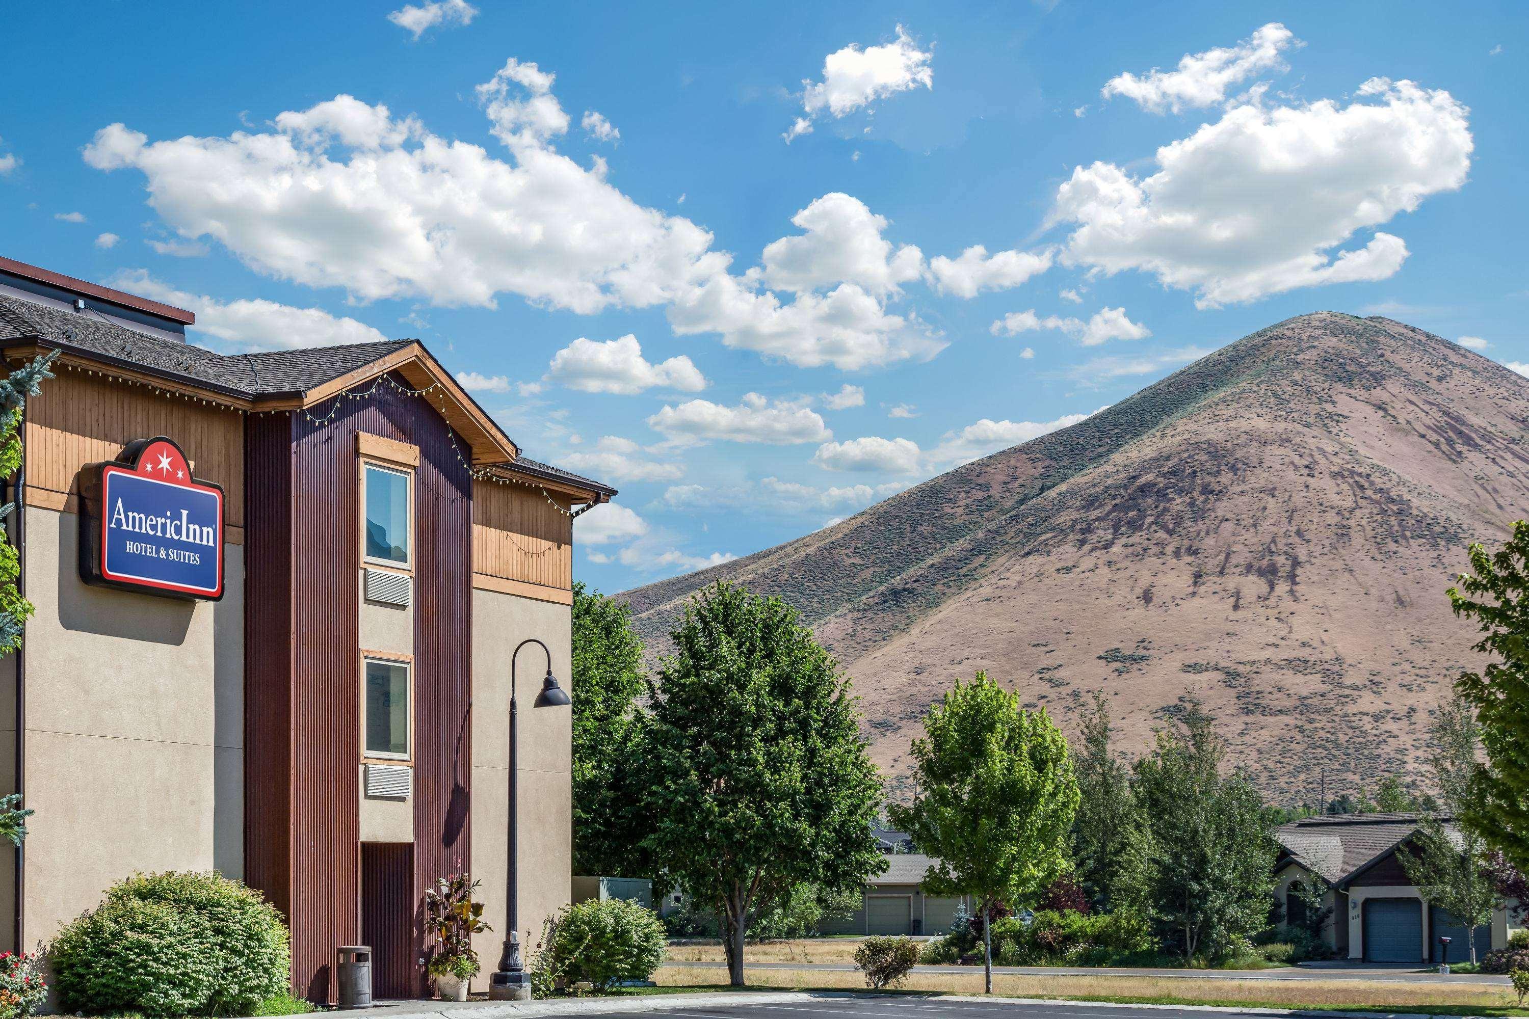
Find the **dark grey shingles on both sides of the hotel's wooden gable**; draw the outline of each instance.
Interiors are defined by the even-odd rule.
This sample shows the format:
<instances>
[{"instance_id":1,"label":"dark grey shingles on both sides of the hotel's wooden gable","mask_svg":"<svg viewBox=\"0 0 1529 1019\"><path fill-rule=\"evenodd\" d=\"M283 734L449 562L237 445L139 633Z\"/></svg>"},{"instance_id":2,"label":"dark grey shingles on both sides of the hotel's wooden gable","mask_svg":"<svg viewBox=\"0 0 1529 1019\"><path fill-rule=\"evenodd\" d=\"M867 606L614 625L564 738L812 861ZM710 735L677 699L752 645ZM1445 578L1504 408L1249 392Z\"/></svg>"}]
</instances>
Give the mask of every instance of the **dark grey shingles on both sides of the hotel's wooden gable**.
<instances>
[{"instance_id":1,"label":"dark grey shingles on both sides of the hotel's wooden gable","mask_svg":"<svg viewBox=\"0 0 1529 1019\"><path fill-rule=\"evenodd\" d=\"M249 399L312 390L417 342L387 339L255 354L219 354L205 347L150 336L89 313L0 293L0 341L11 339L41 339L64 350L147 368L171 382ZM515 460L515 467L526 474L540 474L547 480L569 481L615 495L615 489L599 481L524 457Z\"/></svg>"}]
</instances>

